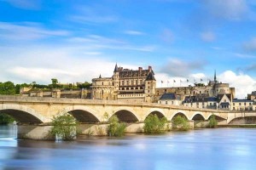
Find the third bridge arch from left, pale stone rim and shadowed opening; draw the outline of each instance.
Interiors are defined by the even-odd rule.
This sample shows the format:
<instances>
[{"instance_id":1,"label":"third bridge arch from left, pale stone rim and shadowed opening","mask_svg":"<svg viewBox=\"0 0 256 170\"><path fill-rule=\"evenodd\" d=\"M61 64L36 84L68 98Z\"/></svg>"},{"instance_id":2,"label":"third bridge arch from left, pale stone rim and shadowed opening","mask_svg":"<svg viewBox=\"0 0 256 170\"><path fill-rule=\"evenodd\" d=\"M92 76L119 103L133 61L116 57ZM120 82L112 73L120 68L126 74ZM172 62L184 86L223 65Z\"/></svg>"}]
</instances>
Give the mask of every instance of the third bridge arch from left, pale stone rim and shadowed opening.
<instances>
[{"instance_id":1,"label":"third bridge arch from left, pale stone rim and shadowed opening","mask_svg":"<svg viewBox=\"0 0 256 170\"><path fill-rule=\"evenodd\" d=\"M116 115L120 122L139 122L136 111L129 107L119 107L113 110L113 113L109 117Z\"/></svg>"}]
</instances>

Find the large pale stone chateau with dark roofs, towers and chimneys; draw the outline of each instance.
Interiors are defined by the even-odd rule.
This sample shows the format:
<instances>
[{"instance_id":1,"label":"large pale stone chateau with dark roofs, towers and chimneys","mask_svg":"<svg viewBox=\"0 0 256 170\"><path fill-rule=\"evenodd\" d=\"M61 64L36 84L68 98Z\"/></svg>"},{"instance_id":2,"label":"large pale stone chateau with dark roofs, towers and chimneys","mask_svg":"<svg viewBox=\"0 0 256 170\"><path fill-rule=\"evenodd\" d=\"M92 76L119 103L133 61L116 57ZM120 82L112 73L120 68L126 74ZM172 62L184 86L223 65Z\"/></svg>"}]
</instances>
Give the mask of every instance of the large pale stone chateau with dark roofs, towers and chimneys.
<instances>
[{"instance_id":1,"label":"large pale stone chateau with dark roofs, towers and chimneys","mask_svg":"<svg viewBox=\"0 0 256 170\"><path fill-rule=\"evenodd\" d=\"M147 70L123 69L115 65L113 77L92 79L91 99L118 99L136 102L153 102L156 81L151 66Z\"/></svg>"}]
</instances>

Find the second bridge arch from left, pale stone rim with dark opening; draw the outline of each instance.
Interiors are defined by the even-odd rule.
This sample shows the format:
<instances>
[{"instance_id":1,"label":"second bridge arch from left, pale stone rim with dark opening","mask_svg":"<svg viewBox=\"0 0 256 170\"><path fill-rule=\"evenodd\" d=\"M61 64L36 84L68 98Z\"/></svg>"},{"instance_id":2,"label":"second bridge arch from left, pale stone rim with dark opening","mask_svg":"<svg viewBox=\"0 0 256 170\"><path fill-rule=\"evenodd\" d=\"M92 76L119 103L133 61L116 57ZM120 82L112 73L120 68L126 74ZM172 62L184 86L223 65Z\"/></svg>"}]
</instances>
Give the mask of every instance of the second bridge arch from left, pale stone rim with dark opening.
<instances>
[{"instance_id":1,"label":"second bridge arch from left, pale stone rim with dark opening","mask_svg":"<svg viewBox=\"0 0 256 170\"><path fill-rule=\"evenodd\" d=\"M67 112L79 122L100 122L100 116L90 107L84 105L73 105L65 108L62 112Z\"/></svg>"}]
</instances>

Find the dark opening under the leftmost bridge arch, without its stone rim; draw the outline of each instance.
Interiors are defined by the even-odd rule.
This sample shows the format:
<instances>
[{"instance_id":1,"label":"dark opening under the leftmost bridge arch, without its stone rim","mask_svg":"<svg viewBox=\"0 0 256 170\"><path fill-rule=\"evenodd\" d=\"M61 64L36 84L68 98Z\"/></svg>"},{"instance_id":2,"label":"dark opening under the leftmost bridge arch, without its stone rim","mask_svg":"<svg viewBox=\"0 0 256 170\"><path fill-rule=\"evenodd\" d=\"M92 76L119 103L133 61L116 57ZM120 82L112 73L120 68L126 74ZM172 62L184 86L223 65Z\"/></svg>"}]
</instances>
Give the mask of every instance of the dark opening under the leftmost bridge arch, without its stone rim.
<instances>
[{"instance_id":1,"label":"dark opening under the leftmost bridge arch, without its stone rim","mask_svg":"<svg viewBox=\"0 0 256 170\"><path fill-rule=\"evenodd\" d=\"M1 113L5 113L9 116L12 116L16 122L21 122L21 123L29 123L29 124L39 124L42 123L42 121L36 117L33 116L32 114L26 112L26 111L19 111L15 109L6 109L6 110L1 110Z\"/></svg>"}]
</instances>

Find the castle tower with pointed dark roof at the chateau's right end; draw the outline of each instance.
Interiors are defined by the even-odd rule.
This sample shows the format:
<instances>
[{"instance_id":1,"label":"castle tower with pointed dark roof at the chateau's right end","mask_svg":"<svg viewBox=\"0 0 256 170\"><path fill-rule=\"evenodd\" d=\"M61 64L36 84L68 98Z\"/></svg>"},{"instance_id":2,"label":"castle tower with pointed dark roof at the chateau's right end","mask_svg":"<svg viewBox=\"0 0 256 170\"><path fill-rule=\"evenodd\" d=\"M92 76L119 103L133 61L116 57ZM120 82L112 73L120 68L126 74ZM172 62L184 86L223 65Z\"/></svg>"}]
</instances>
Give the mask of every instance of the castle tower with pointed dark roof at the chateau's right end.
<instances>
[{"instance_id":1,"label":"castle tower with pointed dark roof at the chateau's right end","mask_svg":"<svg viewBox=\"0 0 256 170\"><path fill-rule=\"evenodd\" d=\"M153 102L154 101L154 94L155 94L155 88L156 88L156 80L154 78L154 72L151 71L151 67L148 67L148 70L150 71L148 73L148 77L145 80L145 101L146 102Z\"/></svg>"}]
</instances>

